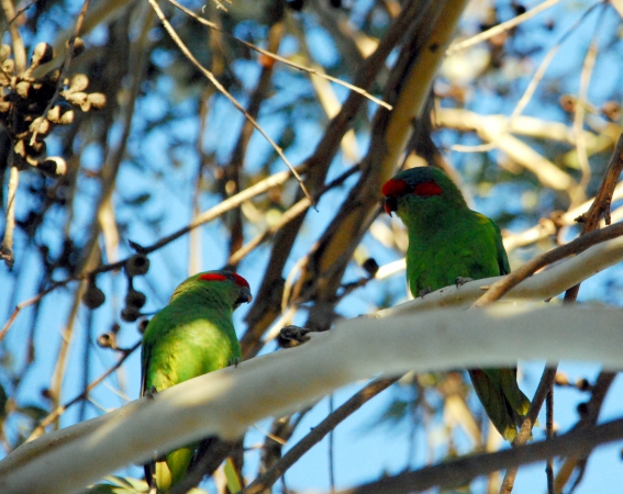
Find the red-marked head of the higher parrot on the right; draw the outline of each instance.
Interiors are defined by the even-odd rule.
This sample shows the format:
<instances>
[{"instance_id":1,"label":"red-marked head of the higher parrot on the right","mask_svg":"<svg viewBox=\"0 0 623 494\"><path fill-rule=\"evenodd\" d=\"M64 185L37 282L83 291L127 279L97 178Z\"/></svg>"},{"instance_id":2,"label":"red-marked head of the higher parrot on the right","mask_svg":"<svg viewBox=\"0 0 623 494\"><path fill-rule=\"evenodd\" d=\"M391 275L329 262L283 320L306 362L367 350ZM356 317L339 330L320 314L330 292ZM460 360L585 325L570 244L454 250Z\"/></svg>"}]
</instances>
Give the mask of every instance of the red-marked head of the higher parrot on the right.
<instances>
[{"instance_id":1,"label":"red-marked head of the higher parrot on the right","mask_svg":"<svg viewBox=\"0 0 623 494\"><path fill-rule=\"evenodd\" d=\"M382 186L385 211L391 216L392 212L400 212L405 207L422 210L435 204L445 206L450 204L465 205L460 191L453 181L438 168L419 167L401 171Z\"/></svg>"}]
</instances>

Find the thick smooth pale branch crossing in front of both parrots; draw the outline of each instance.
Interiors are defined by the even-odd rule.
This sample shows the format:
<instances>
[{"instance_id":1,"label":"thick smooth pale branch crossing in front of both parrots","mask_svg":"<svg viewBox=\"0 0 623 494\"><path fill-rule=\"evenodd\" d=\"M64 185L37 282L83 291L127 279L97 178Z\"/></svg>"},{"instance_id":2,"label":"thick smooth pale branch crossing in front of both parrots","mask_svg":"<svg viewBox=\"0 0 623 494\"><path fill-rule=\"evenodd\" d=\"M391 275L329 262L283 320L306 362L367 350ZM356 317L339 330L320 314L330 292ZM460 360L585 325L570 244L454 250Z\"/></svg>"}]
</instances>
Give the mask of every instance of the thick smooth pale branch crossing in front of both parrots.
<instances>
[{"instance_id":1,"label":"thick smooth pale branch crossing in front of both parrots","mask_svg":"<svg viewBox=\"0 0 623 494\"><path fill-rule=\"evenodd\" d=\"M375 375L581 360L623 369L623 311L607 307L426 311L356 318L308 344L179 384L48 434L0 462L0 492L71 493L156 448L246 427Z\"/></svg>"}]
</instances>

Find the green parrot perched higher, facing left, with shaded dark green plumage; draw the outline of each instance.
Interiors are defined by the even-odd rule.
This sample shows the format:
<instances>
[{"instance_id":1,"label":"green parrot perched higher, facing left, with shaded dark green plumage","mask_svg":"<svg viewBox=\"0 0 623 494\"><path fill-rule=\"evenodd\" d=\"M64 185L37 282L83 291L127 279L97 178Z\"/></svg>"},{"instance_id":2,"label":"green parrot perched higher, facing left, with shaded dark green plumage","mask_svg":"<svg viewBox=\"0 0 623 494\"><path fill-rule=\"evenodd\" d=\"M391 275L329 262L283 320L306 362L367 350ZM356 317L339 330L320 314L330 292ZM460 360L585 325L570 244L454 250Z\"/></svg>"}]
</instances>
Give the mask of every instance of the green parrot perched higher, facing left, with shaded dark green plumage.
<instances>
[{"instance_id":1,"label":"green parrot perched higher, facing left, with shaded dark green plumage","mask_svg":"<svg viewBox=\"0 0 623 494\"><path fill-rule=\"evenodd\" d=\"M382 187L385 210L407 226L407 282L413 296L466 279L508 274L509 260L500 228L471 211L454 182L440 169L411 168ZM474 389L487 415L512 441L530 400L516 382L516 368L471 369Z\"/></svg>"}]
</instances>

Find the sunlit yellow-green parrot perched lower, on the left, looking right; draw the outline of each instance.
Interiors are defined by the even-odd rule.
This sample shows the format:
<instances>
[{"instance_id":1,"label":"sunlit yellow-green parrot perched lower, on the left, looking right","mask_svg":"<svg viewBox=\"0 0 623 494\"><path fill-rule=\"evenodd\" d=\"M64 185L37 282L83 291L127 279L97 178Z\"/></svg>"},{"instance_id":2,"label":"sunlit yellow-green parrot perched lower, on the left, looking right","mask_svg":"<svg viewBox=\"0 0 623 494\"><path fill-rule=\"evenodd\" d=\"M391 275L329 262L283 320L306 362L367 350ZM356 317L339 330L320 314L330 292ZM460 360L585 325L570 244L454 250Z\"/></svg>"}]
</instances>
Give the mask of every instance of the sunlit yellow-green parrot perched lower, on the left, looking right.
<instances>
[{"instance_id":1,"label":"sunlit yellow-green parrot perched lower, on the left, looking right","mask_svg":"<svg viewBox=\"0 0 623 494\"><path fill-rule=\"evenodd\" d=\"M252 300L247 281L233 272L201 272L181 283L145 328L141 396L240 361L232 313ZM186 446L146 464L147 484L155 480L158 493L168 492L185 476L197 446Z\"/></svg>"}]
</instances>

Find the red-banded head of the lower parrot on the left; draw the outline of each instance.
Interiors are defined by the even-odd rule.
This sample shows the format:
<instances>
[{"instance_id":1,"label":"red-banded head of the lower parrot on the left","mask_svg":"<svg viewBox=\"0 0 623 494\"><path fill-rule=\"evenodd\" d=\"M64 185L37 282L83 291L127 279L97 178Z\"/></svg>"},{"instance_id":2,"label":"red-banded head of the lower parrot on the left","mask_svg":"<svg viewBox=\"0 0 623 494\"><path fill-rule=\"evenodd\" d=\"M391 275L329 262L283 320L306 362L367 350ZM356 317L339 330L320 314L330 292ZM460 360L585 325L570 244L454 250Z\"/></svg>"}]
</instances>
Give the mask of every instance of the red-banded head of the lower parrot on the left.
<instances>
[{"instance_id":1,"label":"red-banded head of the lower parrot on the left","mask_svg":"<svg viewBox=\"0 0 623 494\"><path fill-rule=\"evenodd\" d=\"M248 281L231 271L205 271L194 274L176 289L171 301L181 294L192 292L203 293L211 300L218 297L231 305L234 311L240 304L253 300Z\"/></svg>"}]
</instances>

